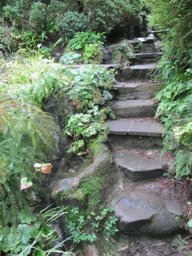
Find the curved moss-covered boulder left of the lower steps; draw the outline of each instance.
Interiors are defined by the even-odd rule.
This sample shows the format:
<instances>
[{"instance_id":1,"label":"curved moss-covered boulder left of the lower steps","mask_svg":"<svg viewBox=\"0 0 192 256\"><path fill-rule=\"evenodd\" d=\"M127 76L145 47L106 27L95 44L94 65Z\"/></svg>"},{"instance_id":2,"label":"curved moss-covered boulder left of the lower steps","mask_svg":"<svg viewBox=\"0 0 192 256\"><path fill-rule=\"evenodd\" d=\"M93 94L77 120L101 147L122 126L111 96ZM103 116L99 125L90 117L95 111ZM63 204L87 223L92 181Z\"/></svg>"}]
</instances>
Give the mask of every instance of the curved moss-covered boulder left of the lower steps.
<instances>
[{"instance_id":1,"label":"curved moss-covered boulder left of the lower steps","mask_svg":"<svg viewBox=\"0 0 192 256\"><path fill-rule=\"evenodd\" d=\"M93 163L75 177L58 180L52 191L53 199L92 210L105 204L113 191L119 191L120 176L105 140L99 135L90 141Z\"/></svg>"}]
</instances>

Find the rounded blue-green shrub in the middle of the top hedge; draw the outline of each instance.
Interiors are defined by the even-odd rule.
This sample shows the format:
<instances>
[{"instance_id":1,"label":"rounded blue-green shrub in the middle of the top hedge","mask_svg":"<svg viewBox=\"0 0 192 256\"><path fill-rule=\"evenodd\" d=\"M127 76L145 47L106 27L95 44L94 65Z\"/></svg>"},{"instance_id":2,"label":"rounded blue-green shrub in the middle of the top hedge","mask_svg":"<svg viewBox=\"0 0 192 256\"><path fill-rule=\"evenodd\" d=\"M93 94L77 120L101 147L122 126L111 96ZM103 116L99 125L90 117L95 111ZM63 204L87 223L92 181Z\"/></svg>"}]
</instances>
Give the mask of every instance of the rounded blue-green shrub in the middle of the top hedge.
<instances>
[{"instance_id":1,"label":"rounded blue-green shrub in the middle of the top hedge","mask_svg":"<svg viewBox=\"0 0 192 256\"><path fill-rule=\"evenodd\" d=\"M89 19L78 12L66 12L55 20L58 31L66 38L73 38L77 32L89 30Z\"/></svg>"}]
</instances>

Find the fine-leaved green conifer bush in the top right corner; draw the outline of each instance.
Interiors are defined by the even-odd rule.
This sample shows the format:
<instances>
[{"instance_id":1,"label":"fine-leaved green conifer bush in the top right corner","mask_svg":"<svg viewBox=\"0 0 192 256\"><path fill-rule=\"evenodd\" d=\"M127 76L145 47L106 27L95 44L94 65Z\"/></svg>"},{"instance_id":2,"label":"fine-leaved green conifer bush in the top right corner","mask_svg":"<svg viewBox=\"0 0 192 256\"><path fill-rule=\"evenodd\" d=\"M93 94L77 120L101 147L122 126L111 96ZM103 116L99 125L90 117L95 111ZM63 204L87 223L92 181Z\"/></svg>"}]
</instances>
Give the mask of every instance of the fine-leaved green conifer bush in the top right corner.
<instances>
[{"instance_id":1,"label":"fine-leaved green conifer bush in the top right corner","mask_svg":"<svg viewBox=\"0 0 192 256\"><path fill-rule=\"evenodd\" d=\"M190 0L145 0L151 7L150 25L155 29L170 29L164 35L166 58L178 66L192 65L192 4ZM163 19L162 19L163 17Z\"/></svg>"}]
</instances>

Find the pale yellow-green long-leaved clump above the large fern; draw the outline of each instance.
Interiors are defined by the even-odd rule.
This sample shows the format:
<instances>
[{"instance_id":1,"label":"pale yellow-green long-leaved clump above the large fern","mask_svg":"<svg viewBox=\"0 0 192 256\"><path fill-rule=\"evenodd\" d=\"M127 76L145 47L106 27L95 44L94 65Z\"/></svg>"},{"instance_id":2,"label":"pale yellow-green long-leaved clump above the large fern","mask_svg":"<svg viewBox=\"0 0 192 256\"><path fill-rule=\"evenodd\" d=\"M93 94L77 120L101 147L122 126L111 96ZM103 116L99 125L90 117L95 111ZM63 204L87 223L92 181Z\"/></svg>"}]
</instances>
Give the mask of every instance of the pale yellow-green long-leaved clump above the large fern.
<instances>
[{"instance_id":1,"label":"pale yellow-green long-leaved clump above the large fern","mask_svg":"<svg viewBox=\"0 0 192 256\"><path fill-rule=\"evenodd\" d=\"M1 90L40 107L44 99L67 85L67 79L61 77L62 66L41 56L11 62L6 67L6 74L1 77Z\"/></svg>"}]
</instances>

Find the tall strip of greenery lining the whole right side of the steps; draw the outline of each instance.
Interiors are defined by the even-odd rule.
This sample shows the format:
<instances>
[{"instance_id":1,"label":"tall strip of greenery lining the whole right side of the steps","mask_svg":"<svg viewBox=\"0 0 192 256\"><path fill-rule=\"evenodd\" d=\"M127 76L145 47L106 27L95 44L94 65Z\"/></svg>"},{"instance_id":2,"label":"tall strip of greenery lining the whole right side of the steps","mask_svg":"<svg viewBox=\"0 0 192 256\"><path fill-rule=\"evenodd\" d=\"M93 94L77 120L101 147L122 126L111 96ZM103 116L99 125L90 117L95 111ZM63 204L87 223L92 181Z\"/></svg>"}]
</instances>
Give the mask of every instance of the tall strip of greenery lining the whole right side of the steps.
<instances>
[{"instance_id":1,"label":"tall strip of greenery lining the whole right side of the steps","mask_svg":"<svg viewBox=\"0 0 192 256\"><path fill-rule=\"evenodd\" d=\"M165 124L163 153L168 149L175 149L176 177L191 177L192 1L145 2L151 9L150 25L154 29L168 29L161 35L163 56L156 70L156 79L166 83L156 97L160 100L156 115Z\"/></svg>"}]
</instances>

